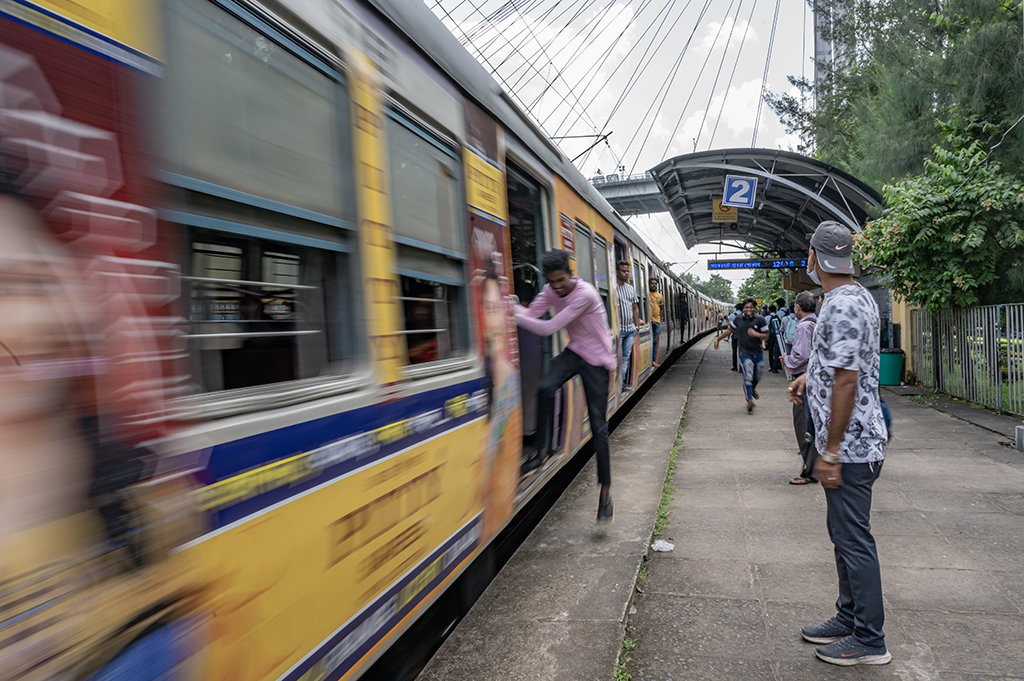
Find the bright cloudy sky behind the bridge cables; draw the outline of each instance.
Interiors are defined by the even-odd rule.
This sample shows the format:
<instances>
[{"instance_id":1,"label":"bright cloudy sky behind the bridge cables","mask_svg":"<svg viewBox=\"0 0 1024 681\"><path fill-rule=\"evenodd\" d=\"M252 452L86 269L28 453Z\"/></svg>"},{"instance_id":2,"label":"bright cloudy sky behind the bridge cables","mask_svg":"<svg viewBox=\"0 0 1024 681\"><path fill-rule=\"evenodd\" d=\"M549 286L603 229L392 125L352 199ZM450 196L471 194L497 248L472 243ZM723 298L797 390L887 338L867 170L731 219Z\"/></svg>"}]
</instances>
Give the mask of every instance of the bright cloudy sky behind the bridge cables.
<instances>
[{"instance_id":1,"label":"bright cloudy sky behind the bridge cables","mask_svg":"<svg viewBox=\"0 0 1024 681\"><path fill-rule=\"evenodd\" d=\"M643 173L708 148L795 151L766 89L813 76L804 0L425 0L587 177ZM775 39L771 41L772 25ZM607 142L589 154L597 134ZM589 136L585 136L589 135ZM582 155L582 156L581 156ZM707 281L717 247L687 250L668 213L628 220L679 273ZM726 251L728 252L728 251ZM732 250L732 253L735 253ZM750 274L722 272L733 291Z\"/></svg>"}]
</instances>

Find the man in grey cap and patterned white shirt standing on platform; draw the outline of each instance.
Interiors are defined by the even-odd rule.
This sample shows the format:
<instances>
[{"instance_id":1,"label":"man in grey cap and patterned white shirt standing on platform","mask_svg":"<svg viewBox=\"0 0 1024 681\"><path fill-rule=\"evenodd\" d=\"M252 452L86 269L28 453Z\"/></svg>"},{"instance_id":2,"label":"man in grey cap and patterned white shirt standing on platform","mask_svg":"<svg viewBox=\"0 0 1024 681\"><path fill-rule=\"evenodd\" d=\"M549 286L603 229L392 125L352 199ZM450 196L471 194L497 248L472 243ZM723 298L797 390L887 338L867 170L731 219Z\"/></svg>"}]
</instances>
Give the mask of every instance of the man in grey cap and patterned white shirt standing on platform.
<instances>
[{"instance_id":1,"label":"man in grey cap and patterned white shirt standing on platform","mask_svg":"<svg viewBox=\"0 0 1024 681\"><path fill-rule=\"evenodd\" d=\"M882 472L887 431L879 397L879 308L853 280L853 236L822 222L811 237L807 273L821 285L824 302L807 373L793 382L790 398L810 407L820 453L815 477L825 488L828 536L836 549L836 615L804 627L822 644L819 659L845 667L885 665L885 611L879 554L871 537L871 487Z\"/></svg>"}]
</instances>

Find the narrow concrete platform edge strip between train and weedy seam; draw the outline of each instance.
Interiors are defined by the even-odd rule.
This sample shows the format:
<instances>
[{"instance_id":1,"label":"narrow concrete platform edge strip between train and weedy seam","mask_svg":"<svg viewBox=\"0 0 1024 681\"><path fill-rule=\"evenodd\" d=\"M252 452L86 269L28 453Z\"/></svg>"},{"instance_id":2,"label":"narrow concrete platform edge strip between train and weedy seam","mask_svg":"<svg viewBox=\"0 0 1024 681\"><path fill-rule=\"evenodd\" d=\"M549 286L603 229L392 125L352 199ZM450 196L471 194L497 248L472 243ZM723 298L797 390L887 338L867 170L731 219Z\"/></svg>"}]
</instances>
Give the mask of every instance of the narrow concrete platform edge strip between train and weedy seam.
<instances>
[{"instance_id":1,"label":"narrow concrete platform edge strip between train and weedy seam","mask_svg":"<svg viewBox=\"0 0 1024 681\"><path fill-rule=\"evenodd\" d=\"M614 523L593 459L456 628L420 681L613 679L669 455L702 348L669 368L611 434Z\"/></svg>"}]
</instances>

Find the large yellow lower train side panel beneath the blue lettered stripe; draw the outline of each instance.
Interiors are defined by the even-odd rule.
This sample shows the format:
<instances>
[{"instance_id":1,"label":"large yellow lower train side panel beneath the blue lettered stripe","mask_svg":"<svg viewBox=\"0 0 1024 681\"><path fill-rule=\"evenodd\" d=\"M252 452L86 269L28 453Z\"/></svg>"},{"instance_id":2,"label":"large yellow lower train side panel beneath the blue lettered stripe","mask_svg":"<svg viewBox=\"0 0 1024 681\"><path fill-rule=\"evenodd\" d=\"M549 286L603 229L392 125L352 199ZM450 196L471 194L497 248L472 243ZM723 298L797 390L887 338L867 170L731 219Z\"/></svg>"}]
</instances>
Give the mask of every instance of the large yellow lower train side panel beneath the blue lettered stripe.
<instances>
[{"instance_id":1,"label":"large yellow lower train side panel beneath the blue lettered stripe","mask_svg":"<svg viewBox=\"0 0 1024 681\"><path fill-rule=\"evenodd\" d=\"M209 678L278 678L478 515L485 434L470 422L189 549L214 581Z\"/></svg>"}]
</instances>

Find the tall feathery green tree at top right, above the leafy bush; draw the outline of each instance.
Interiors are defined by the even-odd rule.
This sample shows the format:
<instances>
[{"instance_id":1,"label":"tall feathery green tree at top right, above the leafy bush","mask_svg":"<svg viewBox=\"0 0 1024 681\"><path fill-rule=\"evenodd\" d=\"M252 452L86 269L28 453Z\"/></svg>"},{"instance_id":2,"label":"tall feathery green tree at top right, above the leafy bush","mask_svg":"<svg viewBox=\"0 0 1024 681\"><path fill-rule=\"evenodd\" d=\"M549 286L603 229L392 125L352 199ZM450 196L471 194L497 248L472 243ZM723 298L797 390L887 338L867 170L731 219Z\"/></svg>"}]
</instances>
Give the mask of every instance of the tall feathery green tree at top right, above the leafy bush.
<instances>
[{"instance_id":1,"label":"tall feathery green tree at top right, above the leafy bush","mask_svg":"<svg viewBox=\"0 0 1024 681\"><path fill-rule=\"evenodd\" d=\"M935 120L954 113L1002 130L1024 113L1021 3L1016 0L816 0L831 12L836 45L817 81L791 77L796 94L768 104L800 151L876 187L924 170L940 143ZM996 160L1024 167L1024 135Z\"/></svg>"}]
</instances>

